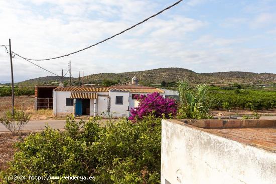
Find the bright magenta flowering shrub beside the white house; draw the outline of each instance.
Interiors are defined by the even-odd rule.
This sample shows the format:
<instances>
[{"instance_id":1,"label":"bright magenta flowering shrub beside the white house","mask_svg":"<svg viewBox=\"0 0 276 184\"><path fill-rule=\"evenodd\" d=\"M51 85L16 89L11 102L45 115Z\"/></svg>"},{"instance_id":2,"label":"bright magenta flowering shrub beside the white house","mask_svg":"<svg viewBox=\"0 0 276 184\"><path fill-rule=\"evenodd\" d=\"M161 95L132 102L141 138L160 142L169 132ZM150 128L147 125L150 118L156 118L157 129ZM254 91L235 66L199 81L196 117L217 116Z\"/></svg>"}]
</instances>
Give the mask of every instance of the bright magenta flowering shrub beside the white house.
<instances>
[{"instance_id":1,"label":"bright magenta flowering shrub beside the white house","mask_svg":"<svg viewBox=\"0 0 276 184\"><path fill-rule=\"evenodd\" d=\"M154 92L149 95L134 96L139 101L139 106L130 109L129 120L142 119L144 116L153 114L156 117L166 118L175 116L177 113L177 103L174 99L164 98L159 93Z\"/></svg>"}]
</instances>

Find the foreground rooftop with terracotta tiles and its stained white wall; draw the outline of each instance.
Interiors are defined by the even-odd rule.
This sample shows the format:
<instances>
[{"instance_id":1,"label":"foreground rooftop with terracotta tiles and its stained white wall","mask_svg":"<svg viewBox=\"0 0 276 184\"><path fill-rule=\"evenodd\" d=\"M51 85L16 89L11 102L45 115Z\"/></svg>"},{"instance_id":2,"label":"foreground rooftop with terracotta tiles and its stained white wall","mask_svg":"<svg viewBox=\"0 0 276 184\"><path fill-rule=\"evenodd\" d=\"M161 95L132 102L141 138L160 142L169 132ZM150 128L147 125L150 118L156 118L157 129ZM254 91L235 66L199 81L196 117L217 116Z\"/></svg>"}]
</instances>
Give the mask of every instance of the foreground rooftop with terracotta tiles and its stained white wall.
<instances>
[{"instance_id":1,"label":"foreground rooftop with terracotta tiles and its stained white wall","mask_svg":"<svg viewBox=\"0 0 276 184\"><path fill-rule=\"evenodd\" d=\"M276 183L276 120L163 120L161 183Z\"/></svg>"}]
</instances>

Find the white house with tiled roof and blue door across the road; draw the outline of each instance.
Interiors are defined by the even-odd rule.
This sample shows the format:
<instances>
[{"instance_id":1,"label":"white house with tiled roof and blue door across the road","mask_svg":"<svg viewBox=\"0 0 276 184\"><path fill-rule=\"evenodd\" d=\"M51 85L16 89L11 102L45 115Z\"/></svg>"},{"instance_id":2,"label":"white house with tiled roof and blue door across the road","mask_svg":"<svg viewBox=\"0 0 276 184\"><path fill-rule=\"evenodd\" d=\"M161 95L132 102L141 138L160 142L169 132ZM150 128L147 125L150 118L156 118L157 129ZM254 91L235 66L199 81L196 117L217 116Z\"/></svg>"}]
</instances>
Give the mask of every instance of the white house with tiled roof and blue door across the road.
<instances>
[{"instance_id":1,"label":"white house with tiled roof and blue door across the road","mask_svg":"<svg viewBox=\"0 0 276 184\"><path fill-rule=\"evenodd\" d=\"M166 96L162 89L138 85L135 77L130 85L57 87L53 90L53 114L100 116L106 111L111 112L113 117L129 117L129 110L138 104L134 96L154 92Z\"/></svg>"}]
</instances>

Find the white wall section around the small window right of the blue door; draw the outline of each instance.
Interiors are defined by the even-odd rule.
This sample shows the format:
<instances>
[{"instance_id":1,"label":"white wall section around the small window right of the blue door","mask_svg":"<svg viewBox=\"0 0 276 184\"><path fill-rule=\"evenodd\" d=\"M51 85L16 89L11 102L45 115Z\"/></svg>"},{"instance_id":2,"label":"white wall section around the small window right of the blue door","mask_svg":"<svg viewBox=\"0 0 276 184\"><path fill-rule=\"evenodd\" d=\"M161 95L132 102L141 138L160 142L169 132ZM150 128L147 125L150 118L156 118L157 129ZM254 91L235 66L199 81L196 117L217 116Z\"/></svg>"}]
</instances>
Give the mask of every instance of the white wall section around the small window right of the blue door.
<instances>
[{"instance_id":1,"label":"white wall section around the small window right of the blue door","mask_svg":"<svg viewBox=\"0 0 276 184\"><path fill-rule=\"evenodd\" d=\"M114 117L122 117L126 116L129 117L128 106L129 106L129 92L115 92L109 91L110 96L110 112L113 113ZM116 96L123 97L123 104L116 105Z\"/></svg>"}]
</instances>

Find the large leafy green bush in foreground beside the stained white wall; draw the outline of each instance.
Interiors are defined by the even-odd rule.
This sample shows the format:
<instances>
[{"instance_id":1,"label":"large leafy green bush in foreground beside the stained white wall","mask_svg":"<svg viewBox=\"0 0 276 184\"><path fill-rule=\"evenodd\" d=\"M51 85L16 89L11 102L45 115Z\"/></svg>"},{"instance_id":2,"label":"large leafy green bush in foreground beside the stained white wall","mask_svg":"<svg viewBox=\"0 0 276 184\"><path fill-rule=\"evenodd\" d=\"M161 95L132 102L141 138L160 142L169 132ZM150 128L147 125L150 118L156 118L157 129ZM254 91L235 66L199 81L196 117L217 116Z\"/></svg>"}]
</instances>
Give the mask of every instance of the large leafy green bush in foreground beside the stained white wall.
<instances>
[{"instance_id":1,"label":"large leafy green bush in foreground beside the stained white wall","mask_svg":"<svg viewBox=\"0 0 276 184\"><path fill-rule=\"evenodd\" d=\"M66 130L47 127L17 143L5 175L95 176L94 181L5 180L6 183L160 183L161 119L137 123L67 118Z\"/></svg>"}]
</instances>

